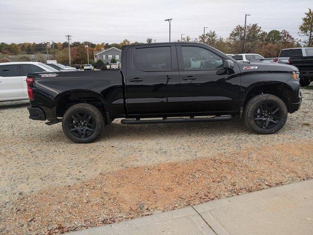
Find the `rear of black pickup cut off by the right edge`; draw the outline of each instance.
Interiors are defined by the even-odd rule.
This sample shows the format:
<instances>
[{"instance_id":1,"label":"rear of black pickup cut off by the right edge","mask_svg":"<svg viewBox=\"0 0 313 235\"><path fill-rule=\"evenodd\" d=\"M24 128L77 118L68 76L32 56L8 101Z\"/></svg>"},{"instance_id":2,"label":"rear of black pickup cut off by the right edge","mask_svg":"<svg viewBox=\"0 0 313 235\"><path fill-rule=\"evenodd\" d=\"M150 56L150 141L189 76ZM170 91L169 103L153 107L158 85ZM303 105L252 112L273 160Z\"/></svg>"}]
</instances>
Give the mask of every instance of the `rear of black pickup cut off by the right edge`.
<instances>
[{"instance_id":1,"label":"rear of black pickup cut off by the right edge","mask_svg":"<svg viewBox=\"0 0 313 235\"><path fill-rule=\"evenodd\" d=\"M301 87L309 86L313 81L313 56L291 56L289 64L298 68Z\"/></svg>"}]
</instances>

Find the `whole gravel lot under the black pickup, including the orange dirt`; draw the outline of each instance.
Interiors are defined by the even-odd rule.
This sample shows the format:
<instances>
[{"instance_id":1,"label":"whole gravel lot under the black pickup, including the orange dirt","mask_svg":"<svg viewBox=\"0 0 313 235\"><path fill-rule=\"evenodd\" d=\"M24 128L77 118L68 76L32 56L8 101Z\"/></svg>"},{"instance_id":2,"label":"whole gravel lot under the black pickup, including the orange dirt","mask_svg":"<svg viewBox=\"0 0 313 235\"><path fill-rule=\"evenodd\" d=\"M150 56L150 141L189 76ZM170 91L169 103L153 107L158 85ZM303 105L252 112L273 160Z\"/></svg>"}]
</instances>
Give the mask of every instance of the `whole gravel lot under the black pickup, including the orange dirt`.
<instances>
[{"instance_id":1,"label":"whole gravel lot under the black pickup, including the orange dirt","mask_svg":"<svg viewBox=\"0 0 313 235\"><path fill-rule=\"evenodd\" d=\"M313 178L313 86L274 135L242 123L122 125L75 144L0 103L0 234L52 234Z\"/></svg>"}]
</instances>

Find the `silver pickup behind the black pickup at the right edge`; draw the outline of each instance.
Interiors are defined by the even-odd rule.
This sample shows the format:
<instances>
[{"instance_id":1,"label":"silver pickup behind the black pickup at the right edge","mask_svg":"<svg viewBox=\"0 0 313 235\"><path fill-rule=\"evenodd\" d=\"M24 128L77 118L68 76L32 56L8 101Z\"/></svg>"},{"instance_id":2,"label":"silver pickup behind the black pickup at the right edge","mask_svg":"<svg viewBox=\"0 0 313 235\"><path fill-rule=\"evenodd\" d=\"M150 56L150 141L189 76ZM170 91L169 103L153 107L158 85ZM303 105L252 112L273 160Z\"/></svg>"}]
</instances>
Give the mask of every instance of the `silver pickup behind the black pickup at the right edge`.
<instances>
[{"instance_id":1,"label":"silver pickup behind the black pickup at the right edge","mask_svg":"<svg viewBox=\"0 0 313 235\"><path fill-rule=\"evenodd\" d=\"M280 51L280 54L278 57L264 58L264 59L252 59L250 61L289 64L289 58L291 56L312 56L312 55L313 55L313 47L286 48Z\"/></svg>"}]
</instances>

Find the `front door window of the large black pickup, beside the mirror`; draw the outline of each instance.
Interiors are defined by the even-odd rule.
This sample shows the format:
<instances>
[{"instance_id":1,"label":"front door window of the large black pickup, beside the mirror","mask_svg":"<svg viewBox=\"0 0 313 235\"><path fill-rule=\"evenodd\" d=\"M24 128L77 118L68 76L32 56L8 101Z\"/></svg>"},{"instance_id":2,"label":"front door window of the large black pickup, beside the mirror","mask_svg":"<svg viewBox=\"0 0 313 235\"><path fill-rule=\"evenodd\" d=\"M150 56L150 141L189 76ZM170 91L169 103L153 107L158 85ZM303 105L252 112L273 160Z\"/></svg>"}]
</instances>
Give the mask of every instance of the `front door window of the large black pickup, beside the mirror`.
<instances>
[{"instance_id":1,"label":"front door window of the large black pickup, beside the mirror","mask_svg":"<svg viewBox=\"0 0 313 235\"><path fill-rule=\"evenodd\" d=\"M201 47L181 47L184 70L215 70L223 66L223 58Z\"/></svg>"}]
</instances>

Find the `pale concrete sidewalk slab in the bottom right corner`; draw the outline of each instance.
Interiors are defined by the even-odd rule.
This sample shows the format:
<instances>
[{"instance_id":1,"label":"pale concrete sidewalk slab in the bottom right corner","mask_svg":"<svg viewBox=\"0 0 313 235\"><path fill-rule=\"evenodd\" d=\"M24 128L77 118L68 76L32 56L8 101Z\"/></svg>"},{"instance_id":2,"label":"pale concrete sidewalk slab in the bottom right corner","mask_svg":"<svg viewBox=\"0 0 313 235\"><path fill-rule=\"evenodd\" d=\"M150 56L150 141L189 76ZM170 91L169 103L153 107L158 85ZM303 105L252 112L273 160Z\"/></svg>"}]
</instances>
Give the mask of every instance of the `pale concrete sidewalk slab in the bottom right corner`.
<instances>
[{"instance_id":1,"label":"pale concrete sidewalk slab in the bottom right corner","mask_svg":"<svg viewBox=\"0 0 313 235\"><path fill-rule=\"evenodd\" d=\"M313 235L313 180L70 235Z\"/></svg>"}]
</instances>

